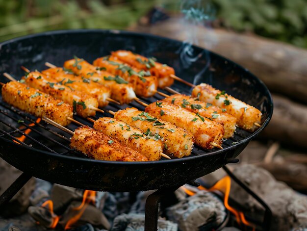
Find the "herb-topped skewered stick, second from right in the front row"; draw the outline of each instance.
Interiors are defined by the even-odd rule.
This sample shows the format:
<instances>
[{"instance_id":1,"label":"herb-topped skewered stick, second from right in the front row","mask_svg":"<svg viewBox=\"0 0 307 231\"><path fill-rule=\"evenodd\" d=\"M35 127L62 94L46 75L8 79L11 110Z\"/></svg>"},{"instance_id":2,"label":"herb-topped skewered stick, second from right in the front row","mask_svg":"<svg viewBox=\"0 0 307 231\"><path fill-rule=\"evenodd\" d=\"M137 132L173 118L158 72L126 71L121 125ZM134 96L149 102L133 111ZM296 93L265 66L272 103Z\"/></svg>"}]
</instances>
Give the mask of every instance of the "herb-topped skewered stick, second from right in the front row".
<instances>
[{"instance_id":1,"label":"herb-topped skewered stick, second from right in the front row","mask_svg":"<svg viewBox=\"0 0 307 231\"><path fill-rule=\"evenodd\" d=\"M204 103L190 96L181 94L169 96L162 101L172 103L185 108L188 111L198 113L209 120L213 120L214 122L223 125L225 130L223 138L231 137L235 131L236 118L223 112L225 109L222 110L218 106L212 106L210 103Z\"/></svg>"}]
</instances>

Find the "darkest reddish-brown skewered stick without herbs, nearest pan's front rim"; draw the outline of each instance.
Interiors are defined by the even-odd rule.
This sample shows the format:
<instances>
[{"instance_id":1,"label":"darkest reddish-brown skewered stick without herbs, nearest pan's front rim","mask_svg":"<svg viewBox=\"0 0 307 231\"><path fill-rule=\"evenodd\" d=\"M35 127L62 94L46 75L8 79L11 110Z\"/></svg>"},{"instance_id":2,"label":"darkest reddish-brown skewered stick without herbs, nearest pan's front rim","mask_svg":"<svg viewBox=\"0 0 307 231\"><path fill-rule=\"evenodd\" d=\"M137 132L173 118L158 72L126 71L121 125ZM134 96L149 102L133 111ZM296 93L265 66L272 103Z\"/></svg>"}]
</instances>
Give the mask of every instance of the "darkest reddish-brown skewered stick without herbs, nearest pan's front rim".
<instances>
[{"instance_id":1,"label":"darkest reddish-brown skewered stick without herbs, nearest pan's front rim","mask_svg":"<svg viewBox=\"0 0 307 231\"><path fill-rule=\"evenodd\" d=\"M144 155L88 126L75 130L70 147L97 160L148 161Z\"/></svg>"}]
</instances>

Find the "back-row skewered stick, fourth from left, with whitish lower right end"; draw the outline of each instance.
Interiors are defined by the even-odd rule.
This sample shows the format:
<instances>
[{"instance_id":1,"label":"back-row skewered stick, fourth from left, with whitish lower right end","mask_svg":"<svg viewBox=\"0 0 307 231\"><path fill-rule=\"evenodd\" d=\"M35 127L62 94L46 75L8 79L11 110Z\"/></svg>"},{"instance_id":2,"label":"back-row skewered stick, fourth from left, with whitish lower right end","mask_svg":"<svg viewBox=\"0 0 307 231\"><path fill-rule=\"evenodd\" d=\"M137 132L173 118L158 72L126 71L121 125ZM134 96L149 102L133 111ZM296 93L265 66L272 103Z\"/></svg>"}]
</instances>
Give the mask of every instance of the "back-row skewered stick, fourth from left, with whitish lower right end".
<instances>
[{"instance_id":1,"label":"back-row skewered stick, fourth from left, with whitish lower right end","mask_svg":"<svg viewBox=\"0 0 307 231\"><path fill-rule=\"evenodd\" d=\"M136 96L133 86L125 79L96 68L90 63L75 57L64 63L66 69L71 69L75 74L88 78L94 82L110 87L111 98L120 103L130 103Z\"/></svg>"}]
</instances>

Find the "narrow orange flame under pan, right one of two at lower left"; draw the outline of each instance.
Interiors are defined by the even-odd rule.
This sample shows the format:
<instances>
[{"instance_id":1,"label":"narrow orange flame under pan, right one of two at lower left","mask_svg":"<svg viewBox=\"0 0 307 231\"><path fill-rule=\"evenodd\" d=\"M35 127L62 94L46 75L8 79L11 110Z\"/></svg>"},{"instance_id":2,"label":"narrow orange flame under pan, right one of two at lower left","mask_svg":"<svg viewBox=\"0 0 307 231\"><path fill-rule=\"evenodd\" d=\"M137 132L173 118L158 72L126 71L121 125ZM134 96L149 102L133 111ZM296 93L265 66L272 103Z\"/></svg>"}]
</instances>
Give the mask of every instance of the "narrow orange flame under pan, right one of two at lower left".
<instances>
[{"instance_id":1,"label":"narrow orange flame under pan, right one of two at lower left","mask_svg":"<svg viewBox=\"0 0 307 231\"><path fill-rule=\"evenodd\" d=\"M73 216L71 219L68 220L68 222L65 225L65 230L69 230L72 228L72 225L75 224L80 217L82 216L83 212L85 211L85 208L89 203L95 204L95 199L96 199L96 192L95 191L90 191L90 190L85 190L83 193L83 200L81 205L73 208L74 210L79 210L79 212Z\"/></svg>"}]
</instances>

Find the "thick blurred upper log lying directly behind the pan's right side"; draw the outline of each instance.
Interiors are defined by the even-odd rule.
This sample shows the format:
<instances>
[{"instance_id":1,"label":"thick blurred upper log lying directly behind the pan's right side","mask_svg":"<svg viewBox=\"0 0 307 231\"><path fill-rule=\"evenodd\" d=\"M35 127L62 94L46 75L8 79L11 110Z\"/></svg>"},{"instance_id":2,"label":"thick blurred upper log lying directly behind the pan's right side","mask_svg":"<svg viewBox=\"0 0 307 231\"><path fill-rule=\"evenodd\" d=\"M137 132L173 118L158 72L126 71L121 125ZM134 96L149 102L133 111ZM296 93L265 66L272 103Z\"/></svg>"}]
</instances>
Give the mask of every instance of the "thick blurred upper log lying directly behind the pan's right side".
<instances>
[{"instance_id":1,"label":"thick blurred upper log lying directly behind the pan's right side","mask_svg":"<svg viewBox=\"0 0 307 231\"><path fill-rule=\"evenodd\" d=\"M193 26L179 18L151 26L135 25L129 29L182 41L197 41L196 45L249 69L272 92L307 103L307 50L256 35Z\"/></svg>"}]
</instances>

